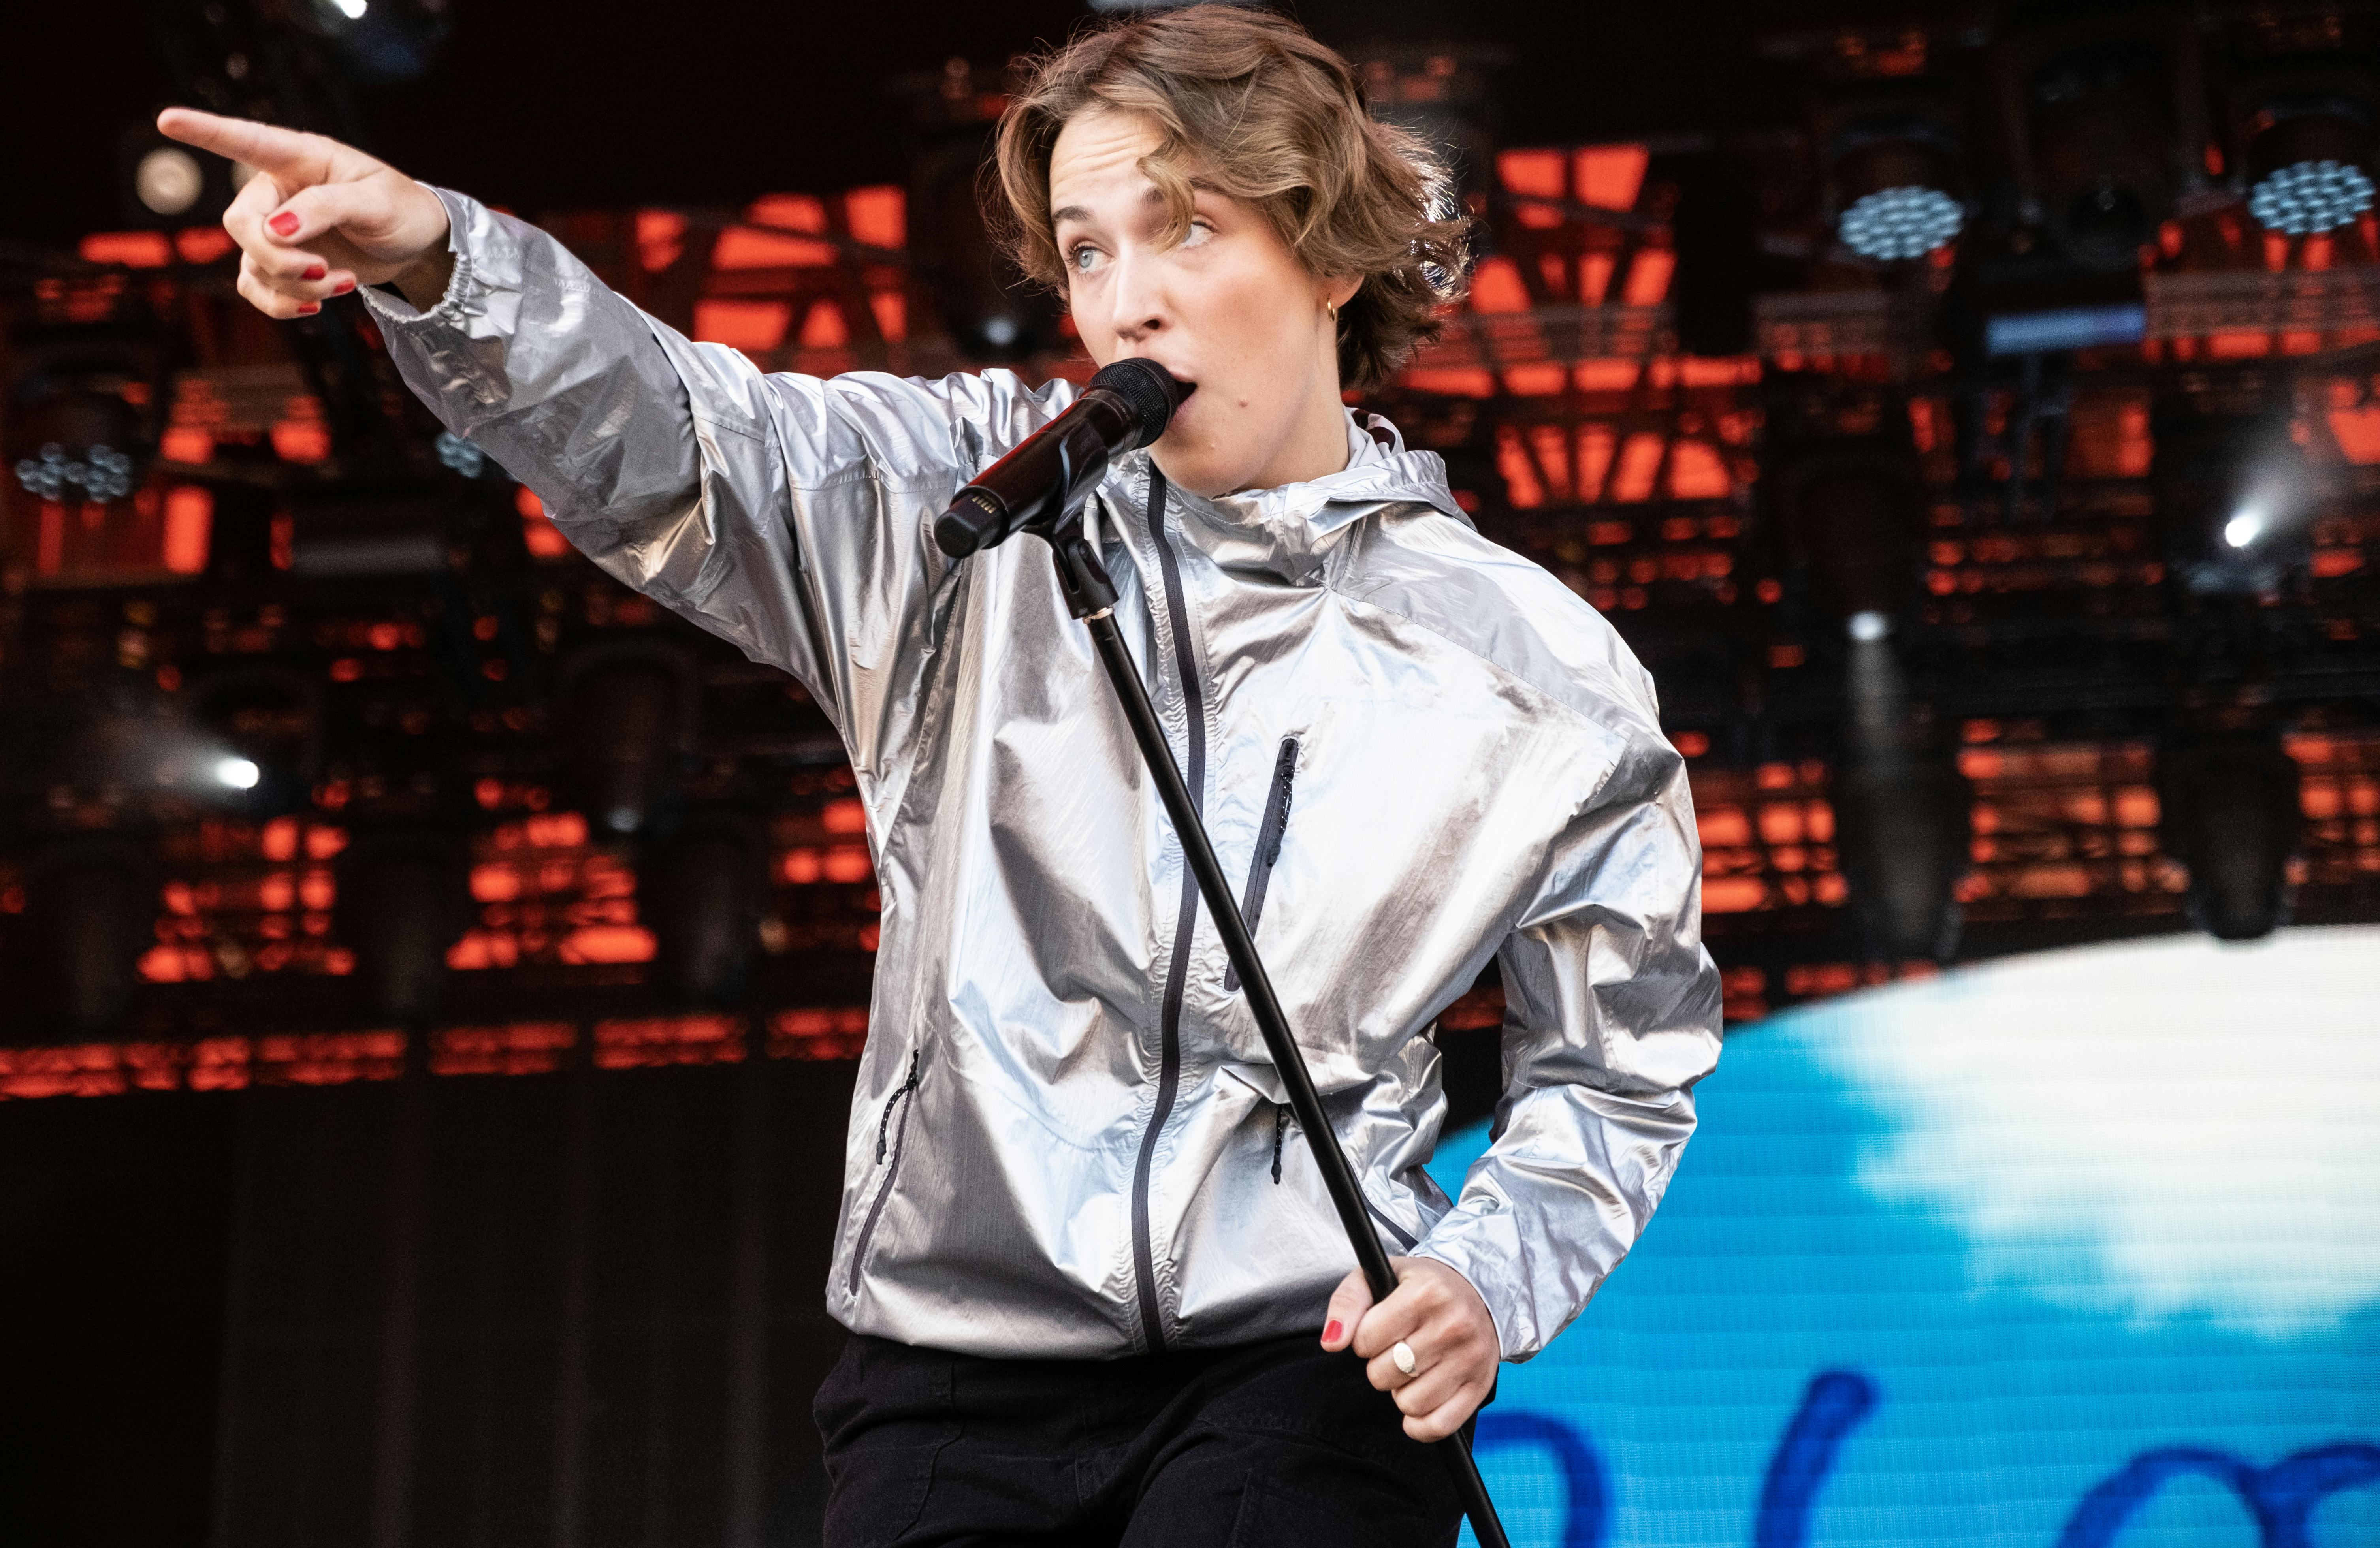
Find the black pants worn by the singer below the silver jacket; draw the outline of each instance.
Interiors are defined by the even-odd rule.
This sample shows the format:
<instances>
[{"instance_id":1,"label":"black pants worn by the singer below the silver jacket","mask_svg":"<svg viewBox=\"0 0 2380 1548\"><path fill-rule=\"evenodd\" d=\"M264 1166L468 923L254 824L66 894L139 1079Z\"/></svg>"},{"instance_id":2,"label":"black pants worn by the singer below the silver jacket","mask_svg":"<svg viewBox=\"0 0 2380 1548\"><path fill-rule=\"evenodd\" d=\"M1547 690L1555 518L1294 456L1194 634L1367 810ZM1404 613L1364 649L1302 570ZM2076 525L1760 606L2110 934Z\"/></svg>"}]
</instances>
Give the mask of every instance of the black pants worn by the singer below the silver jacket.
<instances>
[{"instance_id":1,"label":"black pants worn by the singer below the silver jacket","mask_svg":"<svg viewBox=\"0 0 2380 1548\"><path fill-rule=\"evenodd\" d=\"M826 1548L1447 1548L1433 1446L1314 1334L983 1360L854 1334L816 1403Z\"/></svg>"}]
</instances>

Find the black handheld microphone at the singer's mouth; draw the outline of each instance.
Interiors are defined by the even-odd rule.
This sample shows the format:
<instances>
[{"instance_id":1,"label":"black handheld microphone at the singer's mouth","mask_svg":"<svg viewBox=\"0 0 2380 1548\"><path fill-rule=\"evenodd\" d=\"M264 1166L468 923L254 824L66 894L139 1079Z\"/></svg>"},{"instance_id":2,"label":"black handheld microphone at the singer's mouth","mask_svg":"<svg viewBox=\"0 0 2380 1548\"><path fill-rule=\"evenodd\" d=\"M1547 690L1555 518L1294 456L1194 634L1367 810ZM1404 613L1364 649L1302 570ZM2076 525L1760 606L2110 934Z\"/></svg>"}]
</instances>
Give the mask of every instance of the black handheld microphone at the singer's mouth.
<instances>
[{"instance_id":1,"label":"black handheld microphone at the singer's mouth","mask_svg":"<svg viewBox=\"0 0 2380 1548\"><path fill-rule=\"evenodd\" d=\"M952 559L990 549L1033 521L1069 511L1090 492L1107 461L1166 433L1173 409L1195 390L1152 359L1102 366L1064 414L1026 435L983 468L933 523L933 542Z\"/></svg>"}]
</instances>

